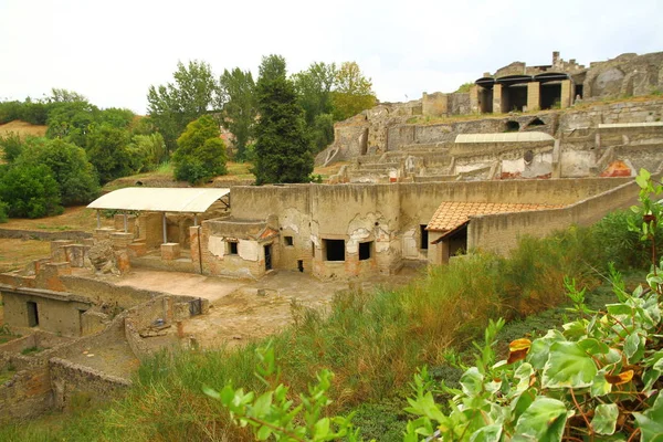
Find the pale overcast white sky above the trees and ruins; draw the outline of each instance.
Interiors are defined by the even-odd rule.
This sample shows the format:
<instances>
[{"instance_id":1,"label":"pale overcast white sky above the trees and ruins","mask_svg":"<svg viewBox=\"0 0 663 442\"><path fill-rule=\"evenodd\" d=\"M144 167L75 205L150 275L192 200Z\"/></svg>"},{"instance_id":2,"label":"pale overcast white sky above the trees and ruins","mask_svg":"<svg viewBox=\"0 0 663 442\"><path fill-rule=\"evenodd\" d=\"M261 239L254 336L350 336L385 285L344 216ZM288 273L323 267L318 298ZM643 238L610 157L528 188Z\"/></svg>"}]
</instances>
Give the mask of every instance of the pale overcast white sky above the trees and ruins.
<instances>
[{"instance_id":1,"label":"pale overcast white sky above the trees and ruins","mask_svg":"<svg viewBox=\"0 0 663 442\"><path fill-rule=\"evenodd\" d=\"M0 0L0 101L73 90L146 110L177 62L217 75L285 56L356 61L380 101L453 92L513 61L580 63L663 50L662 0Z\"/></svg>"}]
</instances>

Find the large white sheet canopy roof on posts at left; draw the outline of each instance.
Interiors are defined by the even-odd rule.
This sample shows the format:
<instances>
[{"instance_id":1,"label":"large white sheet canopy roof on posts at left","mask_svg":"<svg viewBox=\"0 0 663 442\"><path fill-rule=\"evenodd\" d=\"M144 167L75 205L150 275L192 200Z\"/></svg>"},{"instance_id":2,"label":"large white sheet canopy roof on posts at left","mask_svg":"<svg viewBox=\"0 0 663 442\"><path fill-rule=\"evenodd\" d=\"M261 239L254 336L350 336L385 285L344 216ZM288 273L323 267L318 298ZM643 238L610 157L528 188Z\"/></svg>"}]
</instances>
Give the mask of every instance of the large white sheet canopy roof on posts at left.
<instances>
[{"instance_id":1,"label":"large white sheet canopy roof on posts at left","mask_svg":"<svg viewBox=\"0 0 663 442\"><path fill-rule=\"evenodd\" d=\"M128 187L92 201L90 209L149 212L204 213L210 206L230 194L230 189Z\"/></svg>"}]
</instances>

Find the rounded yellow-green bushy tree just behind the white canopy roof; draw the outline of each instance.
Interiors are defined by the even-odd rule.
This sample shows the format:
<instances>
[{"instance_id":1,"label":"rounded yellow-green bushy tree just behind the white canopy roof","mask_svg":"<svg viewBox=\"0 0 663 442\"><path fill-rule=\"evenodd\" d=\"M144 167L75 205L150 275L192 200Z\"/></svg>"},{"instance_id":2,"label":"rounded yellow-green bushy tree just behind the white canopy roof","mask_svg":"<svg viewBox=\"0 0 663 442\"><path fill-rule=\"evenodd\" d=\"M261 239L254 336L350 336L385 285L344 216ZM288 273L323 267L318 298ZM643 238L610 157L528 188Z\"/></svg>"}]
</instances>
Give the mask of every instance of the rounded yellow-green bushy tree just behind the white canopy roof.
<instances>
[{"instance_id":1,"label":"rounded yellow-green bushy tree just behind the white canopy roof","mask_svg":"<svg viewBox=\"0 0 663 442\"><path fill-rule=\"evenodd\" d=\"M175 178L199 183L225 175L225 144L220 135L219 124L209 115L189 123L172 154Z\"/></svg>"}]
</instances>

